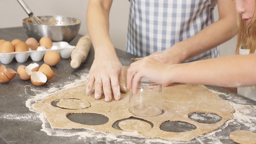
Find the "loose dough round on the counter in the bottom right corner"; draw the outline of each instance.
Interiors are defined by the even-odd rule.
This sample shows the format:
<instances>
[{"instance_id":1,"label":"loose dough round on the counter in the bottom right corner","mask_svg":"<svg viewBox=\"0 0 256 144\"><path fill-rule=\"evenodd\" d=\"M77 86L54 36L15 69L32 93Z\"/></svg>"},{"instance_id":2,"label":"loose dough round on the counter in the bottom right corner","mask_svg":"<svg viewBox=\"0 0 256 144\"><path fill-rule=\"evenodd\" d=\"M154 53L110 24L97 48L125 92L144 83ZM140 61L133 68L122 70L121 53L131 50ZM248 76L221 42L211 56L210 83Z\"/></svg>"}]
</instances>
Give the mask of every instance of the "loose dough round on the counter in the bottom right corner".
<instances>
[{"instance_id":1,"label":"loose dough round on the counter in the bottom right corner","mask_svg":"<svg viewBox=\"0 0 256 144\"><path fill-rule=\"evenodd\" d=\"M236 130L229 137L238 144L256 144L256 133L252 131Z\"/></svg>"}]
</instances>

